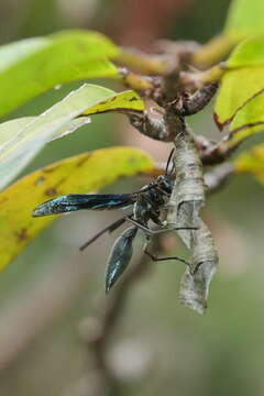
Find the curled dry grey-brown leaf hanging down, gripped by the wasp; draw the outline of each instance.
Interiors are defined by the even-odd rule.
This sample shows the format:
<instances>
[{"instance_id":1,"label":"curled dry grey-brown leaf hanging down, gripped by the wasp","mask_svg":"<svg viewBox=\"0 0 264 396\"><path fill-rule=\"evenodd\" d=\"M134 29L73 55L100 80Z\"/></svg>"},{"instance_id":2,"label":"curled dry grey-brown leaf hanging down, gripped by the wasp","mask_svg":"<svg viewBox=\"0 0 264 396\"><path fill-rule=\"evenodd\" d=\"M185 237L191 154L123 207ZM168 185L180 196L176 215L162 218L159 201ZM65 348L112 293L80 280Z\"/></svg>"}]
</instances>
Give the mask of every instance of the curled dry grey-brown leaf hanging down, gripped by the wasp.
<instances>
[{"instance_id":1,"label":"curled dry grey-brown leaf hanging down, gripped by the wasp","mask_svg":"<svg viewBox=\"0 0 264 396\"><path fill-rule=\"evenodd\" d=\"M170 227L197 227L197 230L177 231L191 251L191 267L186 270L182 278L179 299L202 314L218 254L212 235L199 217L205 204L205 184L201 162L190 131L186 129L176 136L175 148L176 179L167 221Z\"/></svg>"}]
</instances>

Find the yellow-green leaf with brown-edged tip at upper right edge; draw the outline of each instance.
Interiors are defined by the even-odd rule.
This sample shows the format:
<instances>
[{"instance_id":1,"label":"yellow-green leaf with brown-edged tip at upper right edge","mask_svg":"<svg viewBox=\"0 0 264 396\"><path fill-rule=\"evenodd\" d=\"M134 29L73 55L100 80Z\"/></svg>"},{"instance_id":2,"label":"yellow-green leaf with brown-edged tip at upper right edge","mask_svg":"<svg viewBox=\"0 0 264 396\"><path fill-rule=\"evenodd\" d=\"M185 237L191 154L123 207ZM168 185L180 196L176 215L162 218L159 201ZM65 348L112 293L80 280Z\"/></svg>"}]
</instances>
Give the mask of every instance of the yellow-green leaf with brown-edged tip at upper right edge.
<instances>
[{"instance_id":1,"label":"yellow-green leaf with brown-edged tip at upper right edge","mask_svg":"<svg viewBox=\"0 0 264 396\"><path fill-rule=\"evenodd\" d=\"M215 113L218 125L230 124L235 114L264 89L264 36L241 43L227 62Z\"/></svg>"}]
</instances>

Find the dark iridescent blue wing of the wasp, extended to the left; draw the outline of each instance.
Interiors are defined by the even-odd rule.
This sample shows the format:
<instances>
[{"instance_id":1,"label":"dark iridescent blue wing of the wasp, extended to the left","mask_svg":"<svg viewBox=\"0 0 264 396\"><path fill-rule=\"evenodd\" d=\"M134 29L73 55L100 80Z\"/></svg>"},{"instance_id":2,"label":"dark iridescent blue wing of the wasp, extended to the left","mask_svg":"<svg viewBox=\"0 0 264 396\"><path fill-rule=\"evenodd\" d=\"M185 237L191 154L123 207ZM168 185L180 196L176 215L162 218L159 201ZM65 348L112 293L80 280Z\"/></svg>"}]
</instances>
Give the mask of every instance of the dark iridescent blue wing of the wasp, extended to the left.
<instances>
[{"instance_id":1,"label":"dark iridescent blue wing of the wasp, extended to the left","mask_svg":"<svg viewBox=\"0 0 264 396\"><path fill-rule=\"evenodd\" d=\"M69 194L38 205L32 216L66 213L81 209L123 209L133 205L135 200L134 194Z\"/></svg>"}]
</instances>

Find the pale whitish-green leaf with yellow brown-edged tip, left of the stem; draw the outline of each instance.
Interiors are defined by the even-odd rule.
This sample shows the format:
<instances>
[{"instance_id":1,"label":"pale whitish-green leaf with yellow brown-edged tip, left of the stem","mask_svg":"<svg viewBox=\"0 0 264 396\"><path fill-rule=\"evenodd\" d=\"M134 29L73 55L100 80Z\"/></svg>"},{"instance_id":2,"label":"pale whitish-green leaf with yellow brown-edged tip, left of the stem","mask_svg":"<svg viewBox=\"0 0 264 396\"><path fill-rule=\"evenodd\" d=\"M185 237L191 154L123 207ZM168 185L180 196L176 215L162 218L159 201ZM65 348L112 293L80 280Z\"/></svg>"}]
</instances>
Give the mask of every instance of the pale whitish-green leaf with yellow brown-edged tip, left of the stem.
<instances>
[{"instance_id":1,"label":"pale whitish-green leaf with yellow brown-edged tip, left of the stem","mask_svg":"<svg viewBox=\"0 0 264 396\"><path fill-rule=\"evenodd\" d=\"M25 127L20 129L22 121L16 124L15 121L12 121L11 134L13 138L0 146L0 189L29 164L48 141L87 122L87 118L84 122L73 122L78 116L120 109L140 111L143 108L142 100L133 91L116 94L103 87L84 85L26 123ZM4 123L0 127L0 134L3 133L6 139L9 125L9 123ZM13 131L14 128L16 128L16 132Z\"/></svg>"}]
</instances>

